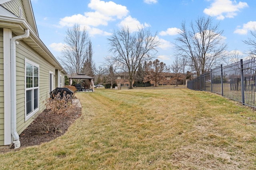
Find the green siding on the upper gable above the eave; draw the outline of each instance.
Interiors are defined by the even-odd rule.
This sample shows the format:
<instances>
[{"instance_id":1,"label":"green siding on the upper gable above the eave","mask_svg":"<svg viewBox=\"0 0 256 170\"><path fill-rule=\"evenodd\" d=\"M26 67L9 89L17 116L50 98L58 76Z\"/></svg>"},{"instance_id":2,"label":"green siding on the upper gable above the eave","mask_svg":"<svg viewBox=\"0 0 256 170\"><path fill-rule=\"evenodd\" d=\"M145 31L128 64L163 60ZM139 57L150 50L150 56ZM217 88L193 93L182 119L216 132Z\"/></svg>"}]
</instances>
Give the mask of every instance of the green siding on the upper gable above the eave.
<instances>
[{"instance_id":1,"label":"green siding on the upper gable above the eave","mask_svg":"<svg viewBox=\"0 0 256 170\"><path fill-rule=\"evenodd\" d=\"M11 0L1 5L7 10L9 10L10 12L12 12L17 17L19 17L19 7L20 7L22 9L22 18L24 18L27 21L26 13L21 0Z\"/></svg>"}]
</instances>

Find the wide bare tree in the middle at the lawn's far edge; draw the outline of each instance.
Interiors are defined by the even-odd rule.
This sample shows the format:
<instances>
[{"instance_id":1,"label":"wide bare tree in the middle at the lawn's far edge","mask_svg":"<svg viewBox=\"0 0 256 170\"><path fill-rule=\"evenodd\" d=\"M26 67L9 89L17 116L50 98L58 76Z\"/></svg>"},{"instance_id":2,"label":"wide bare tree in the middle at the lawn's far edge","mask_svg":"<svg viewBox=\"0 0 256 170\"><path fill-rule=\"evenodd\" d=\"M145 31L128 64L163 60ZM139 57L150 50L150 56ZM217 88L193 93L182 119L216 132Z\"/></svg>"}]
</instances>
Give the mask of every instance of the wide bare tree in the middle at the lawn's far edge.
<instances>
[{"instance_id":1,"label":"wide bare tree in the middle at the lawn's far edge","mask_svg":"<svg viewBox=\"0 0 256 170\"><path fill-rule=\"evenodd\" d=\"M128 27L115 30L108 38L109 51L113 53L107 60L111 65L118 66L123 72L128 72L129 88L132 89L134 75L138 66L144 61L149 61L157 52L159 45L155 35L149 29L138 28L131 32Z\"/></svg>"}]
</instances>

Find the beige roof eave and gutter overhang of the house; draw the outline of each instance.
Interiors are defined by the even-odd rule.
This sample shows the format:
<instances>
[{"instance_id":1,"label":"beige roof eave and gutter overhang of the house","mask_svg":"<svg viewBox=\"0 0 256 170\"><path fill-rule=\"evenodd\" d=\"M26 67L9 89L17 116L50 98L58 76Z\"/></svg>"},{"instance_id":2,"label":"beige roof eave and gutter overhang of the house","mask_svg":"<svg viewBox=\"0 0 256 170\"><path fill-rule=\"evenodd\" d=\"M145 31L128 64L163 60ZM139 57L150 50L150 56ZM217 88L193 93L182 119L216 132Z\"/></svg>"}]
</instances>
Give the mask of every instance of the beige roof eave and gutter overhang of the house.
<instances>
[{"instance_id":1,"label":"beige roof eave and gutter overhang of the house","mask_svg":"<svg viewBox=\"0 0 256 170\"><path fill-rule=\"evenodd\" d=\"M0 6L0 27L11 29L12 32L16 35L23 35L25 33L25 29L28 29L30 31L30 35L27 39L23 39L22 41L24 41L27 45L29 45L32 49L34 49L42 57L49 61L53 66L55 66L55 69L61 70L64 74L67 74L61 64L39 38L30 0L22 0L22 2L28 16L28 21L26 21L24 18L15 16L10 11Z\"/></svg>"}]
</instances>

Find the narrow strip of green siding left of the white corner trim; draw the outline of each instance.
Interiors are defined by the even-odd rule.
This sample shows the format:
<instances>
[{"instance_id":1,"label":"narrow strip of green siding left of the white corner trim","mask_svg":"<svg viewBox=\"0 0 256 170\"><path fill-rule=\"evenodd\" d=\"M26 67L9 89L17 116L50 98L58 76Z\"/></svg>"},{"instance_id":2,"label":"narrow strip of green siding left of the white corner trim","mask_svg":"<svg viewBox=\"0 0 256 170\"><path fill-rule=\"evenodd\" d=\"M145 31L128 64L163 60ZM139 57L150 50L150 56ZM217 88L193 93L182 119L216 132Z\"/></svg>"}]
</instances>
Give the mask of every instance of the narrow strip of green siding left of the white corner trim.
<instances>
[{"instance_id":1,"label":"narrow strip of green siding left of the white corner trim","mask_svg":"<svg viewBox=\"0 0 256 170\"><path fill-rule=\"evenodd\" d=\"M4 36L0 28L0 131L4 131ZM4 145L4 133L0 133L0 145Z\"/></svg>"}]
</instances>

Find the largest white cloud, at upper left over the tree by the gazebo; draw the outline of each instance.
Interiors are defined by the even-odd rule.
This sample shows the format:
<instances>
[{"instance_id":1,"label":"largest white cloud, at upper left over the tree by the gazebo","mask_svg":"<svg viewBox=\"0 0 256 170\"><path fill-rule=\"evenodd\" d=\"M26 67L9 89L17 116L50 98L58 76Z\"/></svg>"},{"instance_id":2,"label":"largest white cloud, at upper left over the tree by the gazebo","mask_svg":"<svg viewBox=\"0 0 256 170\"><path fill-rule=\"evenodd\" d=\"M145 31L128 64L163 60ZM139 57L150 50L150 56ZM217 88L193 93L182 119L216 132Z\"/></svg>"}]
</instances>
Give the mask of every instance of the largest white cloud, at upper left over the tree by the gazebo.
<instances>
[{"instance_id":1,"label":"largest white cloud, at upper left over the tree by the gazebo","mask_svg":"<svg viewBox=\"0 0 256 170\"><path fill-rule=\"evenodd\" d=\"M109 33L93 27L99 25L106 26L109 21L122 19L129 13L126 6L118 5L112 1L104 2L101 0L91 0L88 7L94 10L94 12L85 12L84 15L76 14L61 18L59 27L72 27L74 24L78 23L81 27L86 27L91 35L109 35Z\"/></svg>"}]
</instances>

